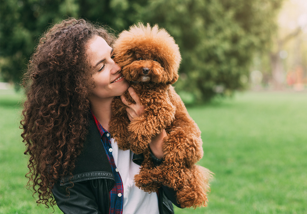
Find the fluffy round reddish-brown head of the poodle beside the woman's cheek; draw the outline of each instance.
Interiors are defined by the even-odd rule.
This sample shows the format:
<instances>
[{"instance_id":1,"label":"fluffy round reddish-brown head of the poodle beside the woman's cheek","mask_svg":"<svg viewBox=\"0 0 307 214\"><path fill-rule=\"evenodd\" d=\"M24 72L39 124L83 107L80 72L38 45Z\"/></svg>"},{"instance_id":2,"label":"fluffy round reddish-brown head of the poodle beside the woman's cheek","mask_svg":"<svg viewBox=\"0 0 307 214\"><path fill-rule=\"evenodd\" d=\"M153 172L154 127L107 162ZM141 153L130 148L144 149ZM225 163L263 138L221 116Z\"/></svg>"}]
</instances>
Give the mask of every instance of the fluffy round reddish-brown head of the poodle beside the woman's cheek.
<instances>
[{"instance_id":1,"label":"fluffy round reddish-brown head of the poodle beside the woman's cheek","mask_svg":"<svg viewBox=\"0 0 307 214\"><path fill-rule=\"evenodd\" d=\"M128 81L173 84L181 61L179 47L157 25L138 23L119 34L114 43L115 62Z\"/></svg>"}]
</instances>

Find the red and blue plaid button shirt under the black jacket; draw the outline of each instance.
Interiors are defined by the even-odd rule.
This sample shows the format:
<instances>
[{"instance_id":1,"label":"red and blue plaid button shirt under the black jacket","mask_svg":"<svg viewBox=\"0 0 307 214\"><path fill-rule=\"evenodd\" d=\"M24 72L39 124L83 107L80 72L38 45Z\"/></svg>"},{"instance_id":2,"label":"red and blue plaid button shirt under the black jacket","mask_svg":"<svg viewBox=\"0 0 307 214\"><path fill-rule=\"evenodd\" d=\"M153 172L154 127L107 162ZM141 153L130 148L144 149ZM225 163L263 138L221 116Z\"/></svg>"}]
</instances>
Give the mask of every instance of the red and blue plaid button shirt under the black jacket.
<instances>
[{"instance_id":1,"label":"red and blue plaid button shirt under the black jacket","mask_svg":"<svg viewBox=\"0 0 307 214\"><path fill-rule=\"evenodd\" d=\"M115 185L110 191L110 214L122 214L123 210L123 202L124 202L124 197L123 197L123 184L122 184L122 178L119 175L118 169L116 168L114 158L112 155L112 147L111 147L111 135L110 133L102 127L102 125L99 123L97 118L94 116L94 114L91 112L92 117L95 121L95 124L97 126L97 129L100 133L101 136L101 141L103 143L103 147L106 151L109 163L112 168L112 172L115 177Z\"/></svg>"}]
</instances>

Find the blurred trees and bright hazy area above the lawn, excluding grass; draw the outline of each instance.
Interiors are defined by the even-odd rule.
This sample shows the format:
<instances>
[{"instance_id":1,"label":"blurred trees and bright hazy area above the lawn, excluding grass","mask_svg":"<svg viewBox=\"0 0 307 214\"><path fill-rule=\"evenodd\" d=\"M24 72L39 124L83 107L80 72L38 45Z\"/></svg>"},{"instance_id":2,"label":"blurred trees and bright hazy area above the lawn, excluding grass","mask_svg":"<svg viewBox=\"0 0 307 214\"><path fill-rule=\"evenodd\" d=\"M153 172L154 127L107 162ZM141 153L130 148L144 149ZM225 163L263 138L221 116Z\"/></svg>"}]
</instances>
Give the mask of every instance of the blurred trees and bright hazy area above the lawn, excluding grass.
<instances>
[{"instance_id":1,"label":"blurred trees and bright hazy area above the lawn, excluding grass","mask_svg":"<svg viewBox=\"0 0 307 214\"><path fill-rule=\"evenodd\" d=\"M181 50L175 85L186 104L307 84L305 0L3 0L0 9L1 82L17 89L41 34L70 16L117 32L138 21L166 28Z\"/></svg>"}]
</instances>

